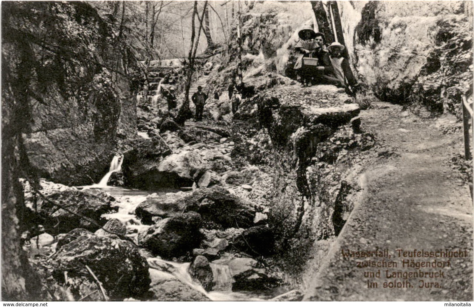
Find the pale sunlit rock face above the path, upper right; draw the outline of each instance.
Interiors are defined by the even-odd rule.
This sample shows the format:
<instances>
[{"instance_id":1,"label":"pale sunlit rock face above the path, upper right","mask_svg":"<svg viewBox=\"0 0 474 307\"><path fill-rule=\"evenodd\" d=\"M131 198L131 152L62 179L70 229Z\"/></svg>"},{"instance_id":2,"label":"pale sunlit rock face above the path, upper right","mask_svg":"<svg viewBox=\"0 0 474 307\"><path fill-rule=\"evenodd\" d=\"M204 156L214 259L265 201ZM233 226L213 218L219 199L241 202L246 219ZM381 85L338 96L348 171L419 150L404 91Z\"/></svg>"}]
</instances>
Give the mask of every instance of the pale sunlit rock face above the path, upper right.
<instances>
[{"instance_id":1,"label":"pale sunlit rock face above the path, upper right","mask_svg":"<svg viewBox=\"0 0 474 307\"><path fill-rule=\"evenodd\" d=\"M456 112L472 89L472 3L337 3L356 76L383 101Z\"/></svg>"}]
</instances>

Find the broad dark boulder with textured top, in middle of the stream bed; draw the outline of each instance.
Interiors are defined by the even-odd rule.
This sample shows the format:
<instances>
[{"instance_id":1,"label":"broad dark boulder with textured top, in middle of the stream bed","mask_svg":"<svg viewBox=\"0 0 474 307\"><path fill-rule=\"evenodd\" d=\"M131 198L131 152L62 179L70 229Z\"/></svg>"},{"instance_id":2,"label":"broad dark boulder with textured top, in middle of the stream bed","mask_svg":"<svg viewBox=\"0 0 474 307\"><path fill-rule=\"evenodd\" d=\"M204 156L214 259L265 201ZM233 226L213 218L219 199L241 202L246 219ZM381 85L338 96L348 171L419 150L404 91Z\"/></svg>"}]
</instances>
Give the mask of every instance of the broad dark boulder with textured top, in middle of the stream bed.
<instances>
[{"instance_id":1,"label":"broad dark boulder with textured top, in middle of the stream bed","mask_svg":"<svg viewBox=\"0 0 474 307\"><path fill-rule=\"evenodd\" d=\"M201 214L204 222L212 222L223 228L254 225L254 205L219 186L198 189L186 197L185 203L186 211Z\"/></svg>"}]
</instances>

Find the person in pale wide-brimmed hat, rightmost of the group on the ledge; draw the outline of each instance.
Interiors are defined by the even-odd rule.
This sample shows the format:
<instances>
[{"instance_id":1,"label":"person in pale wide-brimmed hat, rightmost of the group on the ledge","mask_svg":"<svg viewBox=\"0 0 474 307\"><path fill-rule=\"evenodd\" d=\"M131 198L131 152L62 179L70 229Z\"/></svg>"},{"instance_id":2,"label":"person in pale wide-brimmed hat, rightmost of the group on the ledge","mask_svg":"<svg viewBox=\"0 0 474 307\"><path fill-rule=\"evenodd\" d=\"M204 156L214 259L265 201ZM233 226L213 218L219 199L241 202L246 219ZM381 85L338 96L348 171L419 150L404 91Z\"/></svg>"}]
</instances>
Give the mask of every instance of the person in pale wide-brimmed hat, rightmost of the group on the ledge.
<instances>
[{"instance_id":1,"label":"person in pale wide-brimmed hat, rightmost of the group on the ledge","mask_svg":"<svg viewBox=\"0 0 474 307\"><path fill-rule=\"evenodd\" d=\"M348 89L350 93L353 93L357 80L354 74L352 74L349 61L341 55L344 48L344 45L338 42L331 43L328 47L329 58L340 86Z\"/></svg>"}]
</instances>

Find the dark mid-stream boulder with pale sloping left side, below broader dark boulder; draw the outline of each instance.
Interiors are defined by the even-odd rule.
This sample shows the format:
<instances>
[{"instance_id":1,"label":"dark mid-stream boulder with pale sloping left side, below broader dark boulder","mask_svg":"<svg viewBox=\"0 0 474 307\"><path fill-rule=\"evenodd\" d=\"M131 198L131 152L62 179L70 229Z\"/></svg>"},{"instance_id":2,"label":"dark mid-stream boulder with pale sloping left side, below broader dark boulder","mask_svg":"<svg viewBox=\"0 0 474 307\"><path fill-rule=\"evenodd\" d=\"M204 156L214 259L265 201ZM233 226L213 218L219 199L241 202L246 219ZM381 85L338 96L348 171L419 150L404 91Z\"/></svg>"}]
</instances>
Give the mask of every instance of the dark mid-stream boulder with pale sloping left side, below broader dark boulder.
<instances>
[{"instance_id":1,"label":"dark mid-stream boulder with pale sloping left side, below broader dark boulder","mask_svg":"<svg viewBox=\"0 0 474 307\"><path fill-rule=\"evenodd\" d=\"M165 259L180 257L199 246L201 222L201 215L196 212L176 214L138 233L138 242Z\"/></svg>"}]
</instances>

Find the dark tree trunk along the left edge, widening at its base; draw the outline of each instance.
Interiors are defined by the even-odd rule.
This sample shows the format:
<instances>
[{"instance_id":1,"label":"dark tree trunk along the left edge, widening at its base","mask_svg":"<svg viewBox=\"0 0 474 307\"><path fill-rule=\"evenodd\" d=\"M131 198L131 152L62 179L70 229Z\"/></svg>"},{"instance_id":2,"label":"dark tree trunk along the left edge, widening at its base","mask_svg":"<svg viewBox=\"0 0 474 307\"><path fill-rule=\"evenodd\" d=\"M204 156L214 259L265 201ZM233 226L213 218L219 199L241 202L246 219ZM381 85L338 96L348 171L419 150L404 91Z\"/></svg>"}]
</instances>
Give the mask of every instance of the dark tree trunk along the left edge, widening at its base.
<instances>
[{"instance_id":1,"label":"dark tree trunk along the left edge, widening at its base","mask_svg":"<svg viewBox=\"0 0 474 307\"><path fill-rule=\"evenodd\" d=\"M30 122L26 89L31 67L28 66L31 65L27 61L23 61L23 65L20 65L15 93L9 83L2 82L1 288L3 300L41 299L39 279L32 271L25 251L20 245L22 231L20 226L25 224L27 211L23 200L23 187L18 177L22 167L27 167L20 163L19 149L23 148L21 127L28 127ZM3 71L5 73L5 70ZM7 79L12 79L8 72L4 80Z\"/></svg>"}]
</instances>

